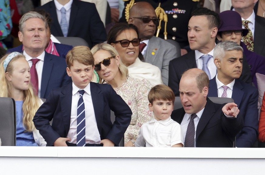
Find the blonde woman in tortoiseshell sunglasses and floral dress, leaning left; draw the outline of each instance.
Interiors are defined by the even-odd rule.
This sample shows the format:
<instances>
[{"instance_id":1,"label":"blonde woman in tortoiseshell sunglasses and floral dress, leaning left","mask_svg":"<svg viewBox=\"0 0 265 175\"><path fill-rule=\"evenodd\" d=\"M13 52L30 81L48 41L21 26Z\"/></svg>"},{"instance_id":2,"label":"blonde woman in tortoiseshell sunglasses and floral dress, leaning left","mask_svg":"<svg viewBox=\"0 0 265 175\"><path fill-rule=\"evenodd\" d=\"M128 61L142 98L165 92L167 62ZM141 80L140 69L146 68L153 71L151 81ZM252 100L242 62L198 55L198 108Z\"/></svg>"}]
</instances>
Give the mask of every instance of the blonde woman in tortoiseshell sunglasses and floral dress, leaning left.
<instances>
[{"instance_id":1,"label":"blonde woman in tortoiseshell sunglasses and floral dress, leaning left","mask_svg":"<svg viewBox=\"0 0 265 175\"><path fill-rule=\"evenodd\" d=\"M95 71L100 77L100 83L105 81L110 84L131 108L131 123L124 133L124 144L133 146L142 124L154 117L148 108L147 98L152 85L145 79L140 80L129 76L127 67L121 62L119 54L111 45L95 45L91 52L95 59Z\"/></svg>"}]
</instances>

